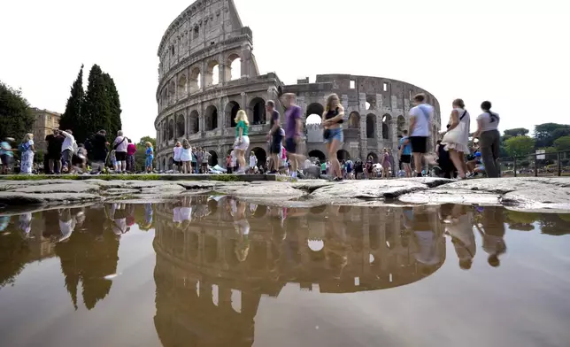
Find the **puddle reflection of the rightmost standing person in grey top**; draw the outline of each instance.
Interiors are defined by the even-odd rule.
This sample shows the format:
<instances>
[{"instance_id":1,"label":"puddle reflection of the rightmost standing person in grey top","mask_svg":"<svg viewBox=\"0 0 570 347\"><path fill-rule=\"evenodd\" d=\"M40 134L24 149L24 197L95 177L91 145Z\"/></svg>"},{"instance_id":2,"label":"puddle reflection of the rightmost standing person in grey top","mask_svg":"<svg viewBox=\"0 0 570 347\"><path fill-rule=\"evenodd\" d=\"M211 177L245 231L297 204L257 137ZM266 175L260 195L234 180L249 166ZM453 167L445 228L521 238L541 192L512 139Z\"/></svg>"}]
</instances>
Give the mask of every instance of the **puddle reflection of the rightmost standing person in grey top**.
<instances>
[{"instance_id":1,"label":"puddle reflection of the rightmost standing person in grey top","mask_svg":"<svg viewBox=\"0 0 570 347\"><path fill-rule=\"evenodd\" d=\"M477 230L483 239L483 250L489 254L489 265L501 265L499 256L506 252L505 244L505 214L502 207L484 207L481 216L481 225Z\"/></svg>"}]
</instances>

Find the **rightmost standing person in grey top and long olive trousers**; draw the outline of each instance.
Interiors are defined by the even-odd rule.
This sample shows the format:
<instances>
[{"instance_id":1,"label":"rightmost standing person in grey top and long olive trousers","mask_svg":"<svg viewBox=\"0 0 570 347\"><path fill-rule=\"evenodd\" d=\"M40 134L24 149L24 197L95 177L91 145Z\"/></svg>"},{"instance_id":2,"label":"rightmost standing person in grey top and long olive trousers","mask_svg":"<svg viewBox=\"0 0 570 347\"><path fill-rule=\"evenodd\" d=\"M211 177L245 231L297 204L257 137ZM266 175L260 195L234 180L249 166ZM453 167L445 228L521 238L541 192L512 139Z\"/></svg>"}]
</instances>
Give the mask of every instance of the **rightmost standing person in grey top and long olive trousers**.
<instances>
[{"instance_id":1,"label":"rightmost standing person in grey top and long olive trousers","mask_svg":"<svg viewBox=\"0 0 570 347\"><path fill-rule=\"evenodd\" d=\"M489 101L481 104L481 110L483 112L477 117L477 131L474 137L479 137L479 148L487 177L497 178L501 174L501 167L498 163L501 144L498 124L501 119L497 113L491 112Z\"/></svg>"}]
</instances>

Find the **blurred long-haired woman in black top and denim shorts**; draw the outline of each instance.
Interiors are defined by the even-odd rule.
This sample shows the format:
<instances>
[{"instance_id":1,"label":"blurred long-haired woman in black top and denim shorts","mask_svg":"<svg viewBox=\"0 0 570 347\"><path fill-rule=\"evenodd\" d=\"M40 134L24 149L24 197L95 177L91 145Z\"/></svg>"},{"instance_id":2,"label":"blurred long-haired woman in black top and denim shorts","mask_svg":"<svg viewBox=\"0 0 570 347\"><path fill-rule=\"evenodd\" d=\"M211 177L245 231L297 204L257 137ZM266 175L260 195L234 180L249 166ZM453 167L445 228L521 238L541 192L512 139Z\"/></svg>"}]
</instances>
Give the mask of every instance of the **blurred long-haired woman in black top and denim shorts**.
<instances>
[{"instance_id":1,"label":"blurred long-haired woman in black top and denim shorts","mask_svg":"<svg viewBox=\"0 0 570 347\"><path fill-rule=\"evenodd\" d=\"M328 161L331 164L331 174L335 177L333 181L343 181L341 164L338 161L336 152L343 143L343 118L344 108L340 98L336 94L331 94L327 98L327 106L323 113L322 126L325 128L323 137L325 148L328 153Z\"/></svg>"}]
</instances>

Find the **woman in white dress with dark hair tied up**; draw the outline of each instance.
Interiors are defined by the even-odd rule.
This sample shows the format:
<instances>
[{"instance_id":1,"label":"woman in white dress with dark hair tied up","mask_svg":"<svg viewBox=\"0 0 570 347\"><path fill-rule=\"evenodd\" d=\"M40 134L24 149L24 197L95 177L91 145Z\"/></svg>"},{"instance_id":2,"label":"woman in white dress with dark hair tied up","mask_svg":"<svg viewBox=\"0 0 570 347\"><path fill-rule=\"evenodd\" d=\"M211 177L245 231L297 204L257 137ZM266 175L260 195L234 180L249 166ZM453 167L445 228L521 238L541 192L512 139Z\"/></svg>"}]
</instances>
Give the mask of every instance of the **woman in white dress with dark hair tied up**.
<instances>
[{"instance_id":1,"label":"woman in white dress with dark hair tied up","mask_svg":"<svg viewBox=\"0 0 570 347\"><path fill-rule=\"evenodd\" d=\"M443 135L442 144L445 150L450 152L450 158L453 165L458 169L459 178L466 178L466 161L465 154L469 153L469 126L471 118L469 112L465 109L465 104L461 99L453 100L451 104L453 111L450 115L450 121L447 132Z\"/></svg>"}]
</instances>

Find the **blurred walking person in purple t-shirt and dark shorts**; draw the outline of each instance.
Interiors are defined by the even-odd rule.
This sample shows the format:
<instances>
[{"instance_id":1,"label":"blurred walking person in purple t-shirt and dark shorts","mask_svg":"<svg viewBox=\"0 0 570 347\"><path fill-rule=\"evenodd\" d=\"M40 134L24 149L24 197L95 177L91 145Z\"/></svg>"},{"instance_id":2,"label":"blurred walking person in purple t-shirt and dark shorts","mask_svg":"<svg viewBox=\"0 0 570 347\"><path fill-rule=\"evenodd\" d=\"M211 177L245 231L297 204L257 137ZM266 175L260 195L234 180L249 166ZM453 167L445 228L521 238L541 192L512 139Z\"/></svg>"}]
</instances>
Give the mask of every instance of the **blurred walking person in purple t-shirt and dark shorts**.
<instances>
[{"instance_id":1,"label":"blurred walking person in purple t-shirt and dark shorts","mask_svg":"<svg viewBox=\"0 0 570 347\"><path fill-rule=\"evenodd\" d=\"M301 140L301 130L303 124L301 115L303 110L295 104L296 95L287 93L282 96L283 105L287 109L285 111L285 150L289 154L289 165L291 168L291 179L297 181L297 169L301 161L301 155L297 153L297 145Z\"/></svg>"}]
</instances>

